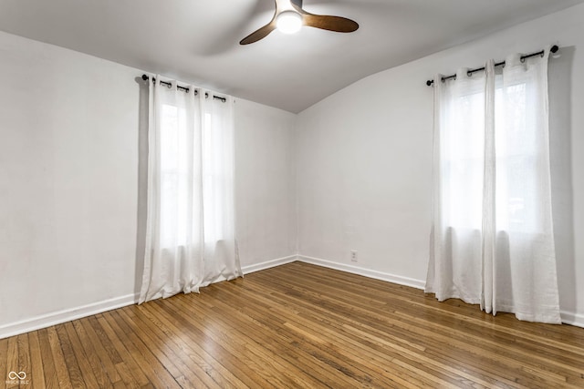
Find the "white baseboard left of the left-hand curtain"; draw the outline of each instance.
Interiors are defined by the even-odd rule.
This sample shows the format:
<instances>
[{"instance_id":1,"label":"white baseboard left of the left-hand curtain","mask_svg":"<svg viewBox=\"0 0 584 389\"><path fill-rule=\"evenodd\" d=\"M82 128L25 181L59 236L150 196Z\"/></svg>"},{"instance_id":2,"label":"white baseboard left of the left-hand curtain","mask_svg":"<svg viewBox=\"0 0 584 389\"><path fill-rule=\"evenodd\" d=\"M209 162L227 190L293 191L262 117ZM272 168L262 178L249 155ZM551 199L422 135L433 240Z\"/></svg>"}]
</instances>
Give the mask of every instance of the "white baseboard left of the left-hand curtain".
<instances>
[{"instance_id":1,"label":"white baseboard left of the left-hand curtain","mask_svg":"<svg viewBox=\"0 0 584 389\"><path fill-rule=\"evenodd\" d=\"M77 308L39 315L21 322L11 322L0 326L0 339L19 335L21 333L28 333L41 328L47 328L51 325L60 324L62 322L70 322L92 314L111 311L135 304L137 301L137 294L128 294L126 296L115 297L102 302L93 302L87 305L82 305Z\"/></svg>"}]
</instances>

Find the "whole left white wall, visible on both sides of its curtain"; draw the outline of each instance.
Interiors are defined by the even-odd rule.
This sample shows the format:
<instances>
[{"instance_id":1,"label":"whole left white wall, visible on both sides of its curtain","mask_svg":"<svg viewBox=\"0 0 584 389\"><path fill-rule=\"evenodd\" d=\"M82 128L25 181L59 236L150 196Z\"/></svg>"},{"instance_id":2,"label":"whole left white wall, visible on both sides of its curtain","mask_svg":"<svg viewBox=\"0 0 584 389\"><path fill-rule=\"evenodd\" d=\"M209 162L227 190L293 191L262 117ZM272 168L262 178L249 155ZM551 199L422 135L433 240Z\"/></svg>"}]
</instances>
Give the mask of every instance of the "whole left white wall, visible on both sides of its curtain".
<instances>
[{"instance_id":1,"label":"whole left white wall, visible on both sides of its curtain","mask_svg":"<svg viewBox=\"0 0 584 389\"><path fill-rule=\"evenodd\" d=\"M0 338L134 302L141 73L0 32ZM237 233L253 271L297 250L296 115L245 100L235 114Z\"/></svg>"}]
</instances>

